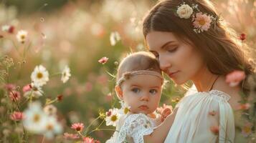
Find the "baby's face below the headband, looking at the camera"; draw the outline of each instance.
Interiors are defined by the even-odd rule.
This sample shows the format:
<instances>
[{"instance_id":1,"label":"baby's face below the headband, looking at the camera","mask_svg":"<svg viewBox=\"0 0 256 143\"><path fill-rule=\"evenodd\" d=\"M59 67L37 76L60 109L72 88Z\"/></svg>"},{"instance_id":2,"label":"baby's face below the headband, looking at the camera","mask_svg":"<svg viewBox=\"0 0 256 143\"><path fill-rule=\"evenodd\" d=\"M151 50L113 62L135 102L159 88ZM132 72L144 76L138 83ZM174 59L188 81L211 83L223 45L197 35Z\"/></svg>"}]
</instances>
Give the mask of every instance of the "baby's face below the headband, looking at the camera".
<instances>
[{"instance_id":1,"label":"baby's face below the headband, looking at the camera","mask_svg":"<svg viewBox=\"0 0 256 143\"><path fill-rule=\"evenodd\" d=\"M162 79L143 74L131 77L122 84L123 100L133 113L150 114L161 98Z\"/></svg>"}]
</instances>

